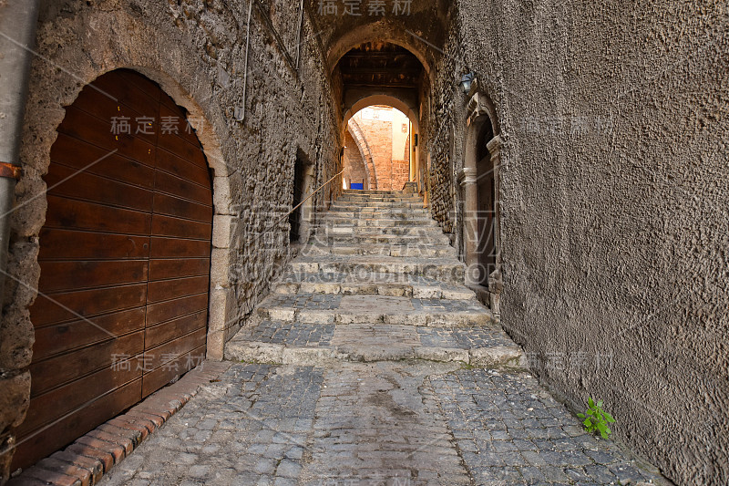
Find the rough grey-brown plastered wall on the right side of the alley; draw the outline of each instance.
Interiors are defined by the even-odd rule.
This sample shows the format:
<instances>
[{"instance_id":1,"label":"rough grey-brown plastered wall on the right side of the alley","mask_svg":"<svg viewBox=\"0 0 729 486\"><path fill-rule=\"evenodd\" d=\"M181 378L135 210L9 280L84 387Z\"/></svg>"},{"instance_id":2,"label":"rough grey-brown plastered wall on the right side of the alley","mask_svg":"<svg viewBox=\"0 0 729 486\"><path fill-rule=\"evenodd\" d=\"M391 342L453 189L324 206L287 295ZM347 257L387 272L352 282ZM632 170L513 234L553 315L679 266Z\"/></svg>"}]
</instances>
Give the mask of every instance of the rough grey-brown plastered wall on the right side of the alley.
<instances>
[{"instance_id":1,"label":"rough grey-brown plastered wall on the right side of the alley","mask_svg":"<svg viewBox=\"0 0 729 486\"><path fill-rule=\"evenodd\" d=\"M457 79L473 70L505 142L503 326L543 381L576 408L603 399L615 436L673 481L726 484L725 3L457 5L430 109L436 218L458 225Z\"/></svg>"}]
</instances>

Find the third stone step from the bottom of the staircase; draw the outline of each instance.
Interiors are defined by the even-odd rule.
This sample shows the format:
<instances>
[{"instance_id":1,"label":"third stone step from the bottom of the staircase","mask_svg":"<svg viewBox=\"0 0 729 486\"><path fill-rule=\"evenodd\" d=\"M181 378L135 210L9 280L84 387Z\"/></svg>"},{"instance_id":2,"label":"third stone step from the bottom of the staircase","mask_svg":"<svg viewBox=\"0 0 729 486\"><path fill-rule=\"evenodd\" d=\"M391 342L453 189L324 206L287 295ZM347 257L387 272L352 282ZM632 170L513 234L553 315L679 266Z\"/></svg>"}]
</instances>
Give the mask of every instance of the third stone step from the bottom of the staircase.
<instances>
[{"instance_id":1,"label":"third stone step from the bottom of the staircase","mask_svg":"<svg viewBox=\"0 0 729 486\"><path fill-rule=\"evenodd\" d=\"M273 286L276 294L385 295L420 299L473 300L467 286L402 274L286 274Z\"/></svg>"}]
</instances>

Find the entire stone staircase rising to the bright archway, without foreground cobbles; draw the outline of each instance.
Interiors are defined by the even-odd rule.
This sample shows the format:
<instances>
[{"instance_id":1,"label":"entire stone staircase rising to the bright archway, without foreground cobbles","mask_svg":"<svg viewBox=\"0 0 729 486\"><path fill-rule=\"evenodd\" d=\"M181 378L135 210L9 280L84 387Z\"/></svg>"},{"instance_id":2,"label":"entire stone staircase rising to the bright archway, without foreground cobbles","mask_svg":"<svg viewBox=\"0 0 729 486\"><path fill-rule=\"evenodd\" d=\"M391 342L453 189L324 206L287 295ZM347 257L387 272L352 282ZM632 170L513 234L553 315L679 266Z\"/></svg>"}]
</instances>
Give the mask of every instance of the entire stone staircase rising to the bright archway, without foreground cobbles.
<instances>
[{"instance_id":1,"label":"entire stone staircase rising to the bright archway, without foreground cobbles","mask_svg":"<svg viewBox=\"0 0 729 486\"><path fill-rule=\"evenodd\" d=\"M519 346L464 285L464 273L416 194L344 191L225 356L525 367Z\"/></svg>"}]
</instances>

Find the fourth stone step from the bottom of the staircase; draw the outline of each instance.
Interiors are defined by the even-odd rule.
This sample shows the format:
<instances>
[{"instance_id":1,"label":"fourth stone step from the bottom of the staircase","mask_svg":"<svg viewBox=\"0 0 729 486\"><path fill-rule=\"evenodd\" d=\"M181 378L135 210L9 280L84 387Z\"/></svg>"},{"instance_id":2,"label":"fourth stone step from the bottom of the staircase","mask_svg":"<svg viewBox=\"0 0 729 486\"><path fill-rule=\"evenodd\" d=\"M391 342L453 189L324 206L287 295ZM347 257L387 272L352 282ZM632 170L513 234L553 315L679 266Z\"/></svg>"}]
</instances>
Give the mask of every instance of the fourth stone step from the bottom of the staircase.
<instances>
[{"instance_id":1,"label":"fourth stone step from the bottom of the staircase","mask_svg":"<svg viewBox=\"0 0 729 486\"><path fill-rule=\"evenodd\" d=\"M463 284L466 265L455 258L411 258L393 256L299 256L286 269L294 274L408 274L447 283Z\"/></svg>"}]
</instances>

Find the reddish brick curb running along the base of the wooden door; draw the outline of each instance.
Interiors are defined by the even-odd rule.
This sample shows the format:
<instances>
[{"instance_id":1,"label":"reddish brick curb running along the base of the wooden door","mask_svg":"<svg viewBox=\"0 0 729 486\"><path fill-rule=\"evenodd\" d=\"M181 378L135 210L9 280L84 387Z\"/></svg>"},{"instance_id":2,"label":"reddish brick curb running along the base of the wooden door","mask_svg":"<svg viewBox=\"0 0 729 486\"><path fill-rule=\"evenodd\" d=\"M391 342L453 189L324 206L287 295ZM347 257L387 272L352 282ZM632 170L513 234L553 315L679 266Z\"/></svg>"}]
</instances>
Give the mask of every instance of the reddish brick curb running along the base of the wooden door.
<instances>
[{"instance_id":1,"label":"reddish brick curb running along the base of the wooden door","mask_svg":"<svg viewBox=\"0 0 729 486\"><path fill-rule=\"evenodd\" d=\"M90 486L124 460L155 429L177 413L200 388L220 377L231 362L206 361L161 388L126 413L110 419L67 446L12 478L6 486Z\"/></svg>"}]
</instances>

